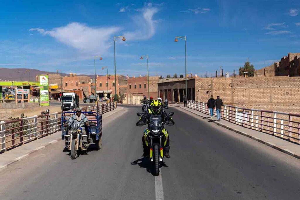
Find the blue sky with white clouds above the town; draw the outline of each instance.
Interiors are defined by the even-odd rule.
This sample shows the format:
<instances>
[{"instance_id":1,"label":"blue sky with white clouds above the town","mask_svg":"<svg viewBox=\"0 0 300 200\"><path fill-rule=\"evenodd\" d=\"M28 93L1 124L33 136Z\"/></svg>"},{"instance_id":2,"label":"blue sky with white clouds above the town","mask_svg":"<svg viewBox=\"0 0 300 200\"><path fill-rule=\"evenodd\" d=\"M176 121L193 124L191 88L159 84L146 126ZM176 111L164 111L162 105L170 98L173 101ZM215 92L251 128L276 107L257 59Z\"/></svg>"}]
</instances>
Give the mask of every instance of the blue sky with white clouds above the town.
<instances>
[{"instance_id":1,"label":"blue sky with white clouds above the town","mask_svg":"<svg viewBox=\"0 0 300 200\"><path fill-rule=\"evenodd\" d=\"M79 74L184 74L224 72L247 58L259 69L300 52L300 3L280 0L208 1L1 1L0 67Z\"/></svg>"}]
</instances>

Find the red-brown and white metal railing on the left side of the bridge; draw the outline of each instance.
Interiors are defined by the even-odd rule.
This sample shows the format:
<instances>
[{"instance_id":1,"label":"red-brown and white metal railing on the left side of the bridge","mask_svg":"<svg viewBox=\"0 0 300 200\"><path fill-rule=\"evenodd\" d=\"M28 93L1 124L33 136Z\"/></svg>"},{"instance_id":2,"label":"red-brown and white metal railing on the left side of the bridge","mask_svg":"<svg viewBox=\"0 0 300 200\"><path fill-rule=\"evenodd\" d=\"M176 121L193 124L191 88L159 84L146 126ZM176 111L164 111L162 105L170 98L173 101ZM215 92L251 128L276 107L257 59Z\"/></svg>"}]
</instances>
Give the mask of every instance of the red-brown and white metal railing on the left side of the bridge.
<instances>
[{"instance_id":1,"label":"red-brown and white metal railing on the left side of the bridge","mask_svg":"<svg viewBox=\"0 0 300 200\"><path fill-rule=\"evenodd\" d=\"M98 114L117 108L117 102L98 104ZM83 107L82 111L97 111L97 106ZM0 122L0 152L21 146L61 130L61 112L35 115Z\"/></svg>"}]
</instances>

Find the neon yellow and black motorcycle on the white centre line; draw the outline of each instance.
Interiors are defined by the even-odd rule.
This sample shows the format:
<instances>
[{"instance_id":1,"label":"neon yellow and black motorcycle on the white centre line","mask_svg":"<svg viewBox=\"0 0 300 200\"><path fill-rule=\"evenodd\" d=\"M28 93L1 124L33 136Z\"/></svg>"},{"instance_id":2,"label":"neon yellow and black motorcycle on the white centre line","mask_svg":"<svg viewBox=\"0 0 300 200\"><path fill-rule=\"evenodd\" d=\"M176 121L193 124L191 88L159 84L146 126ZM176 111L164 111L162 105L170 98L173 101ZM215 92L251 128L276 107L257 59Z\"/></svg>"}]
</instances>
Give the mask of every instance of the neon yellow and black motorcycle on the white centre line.
<instances>
[{"instance_id":1,"label":"neon yellow and black motorcycle on the white centre line","mask_svg":"<svg viewBox=\"0 0 300 200\"><path fill-rule=\"evenodd\" d=\"M166 117L172 116L173 114L174 112L170 112ZM137 116L146 118L141 113L137 113ZM160 115L152 115L149 122L146 124L148 124L148 128L144 131L144 139L146 146L149 149L149 158L151 162L154 163L154 173L158 176L159 165L164 158L164 147L166 146L169 137L169 133L164 128L164 124L173 124L163 122Z\"/></svg>"}]
</instances>

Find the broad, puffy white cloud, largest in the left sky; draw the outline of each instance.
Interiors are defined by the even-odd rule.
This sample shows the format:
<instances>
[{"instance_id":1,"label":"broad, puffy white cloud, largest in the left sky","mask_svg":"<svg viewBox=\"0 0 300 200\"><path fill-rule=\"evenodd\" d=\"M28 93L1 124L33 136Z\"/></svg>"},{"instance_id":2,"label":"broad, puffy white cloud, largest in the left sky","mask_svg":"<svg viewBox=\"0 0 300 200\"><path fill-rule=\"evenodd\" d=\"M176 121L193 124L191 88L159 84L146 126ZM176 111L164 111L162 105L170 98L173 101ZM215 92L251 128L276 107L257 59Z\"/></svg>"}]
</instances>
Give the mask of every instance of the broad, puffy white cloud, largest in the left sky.
<instances>
[{"instance_id":1,"label":"broad, puffy white cloud, largest in the left sky","mask_svg":"<svg viewBox=\"0 0 300 200\"><path fill-rule=\"evenodd\" d=\"M98 54L104 53L111 46L110 39L114 33L120 31L120 28L93 28L73 22L50 31L41 28L32 28L29 31L38 31L42 35L49 35L82 53Z\"/></svg>"}]
</instances>

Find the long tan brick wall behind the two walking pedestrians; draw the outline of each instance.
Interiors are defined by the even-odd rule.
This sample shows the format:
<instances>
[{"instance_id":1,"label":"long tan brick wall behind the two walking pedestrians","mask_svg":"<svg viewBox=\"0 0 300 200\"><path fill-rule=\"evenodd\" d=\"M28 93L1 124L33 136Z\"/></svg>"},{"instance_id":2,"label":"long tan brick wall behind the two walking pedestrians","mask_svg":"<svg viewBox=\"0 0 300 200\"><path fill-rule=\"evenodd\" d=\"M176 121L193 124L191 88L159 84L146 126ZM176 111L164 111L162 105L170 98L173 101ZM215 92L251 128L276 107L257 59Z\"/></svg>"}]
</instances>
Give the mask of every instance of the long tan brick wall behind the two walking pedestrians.
<instances>
[{"instance_id":1,"label":"long tan brick wall behind the two walking pedestrians","mask_svg":"<svg viewBox=\"0 0 300 200\"><path fill-rule=\"evenodd\" d=\"M195 91L196 101L200 102L219 95L228 105L300 111L300 77L197 78Z\"/></svg>"}]
</instances>

